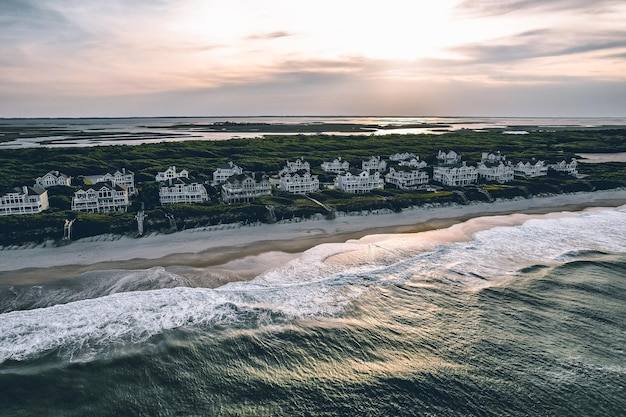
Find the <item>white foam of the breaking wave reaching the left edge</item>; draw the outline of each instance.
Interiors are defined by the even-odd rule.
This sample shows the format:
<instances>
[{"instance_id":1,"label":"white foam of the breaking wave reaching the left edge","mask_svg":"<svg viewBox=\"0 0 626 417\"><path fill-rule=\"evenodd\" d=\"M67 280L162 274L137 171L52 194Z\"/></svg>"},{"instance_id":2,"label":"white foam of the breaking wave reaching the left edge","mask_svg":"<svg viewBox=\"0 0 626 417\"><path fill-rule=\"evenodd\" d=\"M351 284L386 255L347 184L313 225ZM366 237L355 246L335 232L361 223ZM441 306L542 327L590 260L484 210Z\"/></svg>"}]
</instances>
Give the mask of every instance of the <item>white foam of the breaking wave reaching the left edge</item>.
<instances>
[{"instance_id":1,"label":"white foam of the breaking wave reaching the left edge","mask_svg":"<svg viewBox=\"0 0 626 417\"><path fill-rule=\"evenodd\" d=\"M362 289L353 277L300 284L241 282L218 289L173 288L113 294L0 316L0 363L48 351L73 359L106 354L164 331L194 326L258 326L337 314Z\"/></svg>"}]
</instances>

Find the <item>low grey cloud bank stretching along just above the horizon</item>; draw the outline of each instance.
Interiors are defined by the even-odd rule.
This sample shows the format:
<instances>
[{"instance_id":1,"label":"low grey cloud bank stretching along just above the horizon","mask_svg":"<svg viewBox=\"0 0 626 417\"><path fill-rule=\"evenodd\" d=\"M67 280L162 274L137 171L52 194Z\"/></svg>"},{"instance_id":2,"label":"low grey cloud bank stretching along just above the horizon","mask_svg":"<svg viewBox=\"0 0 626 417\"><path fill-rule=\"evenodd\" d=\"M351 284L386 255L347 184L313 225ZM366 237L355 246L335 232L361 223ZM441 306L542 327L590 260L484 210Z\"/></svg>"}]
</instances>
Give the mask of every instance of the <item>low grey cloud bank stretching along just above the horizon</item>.
<instances>
[{"instance_id":1,"label":"low grey cloud bank stretching along just above the horizon","mask_svg":"<svg viewBox=\"0 0 626 417\"><path fill-rule=\"evenodd\" d=\"M36 94L0 101L5 117L435 115L624 117L626 84L565 79L550 85L374 83L337 73L285 73L249 84L111 97ZM53 110L51 110L53 109Z\"/></svg>"}]
</instances>

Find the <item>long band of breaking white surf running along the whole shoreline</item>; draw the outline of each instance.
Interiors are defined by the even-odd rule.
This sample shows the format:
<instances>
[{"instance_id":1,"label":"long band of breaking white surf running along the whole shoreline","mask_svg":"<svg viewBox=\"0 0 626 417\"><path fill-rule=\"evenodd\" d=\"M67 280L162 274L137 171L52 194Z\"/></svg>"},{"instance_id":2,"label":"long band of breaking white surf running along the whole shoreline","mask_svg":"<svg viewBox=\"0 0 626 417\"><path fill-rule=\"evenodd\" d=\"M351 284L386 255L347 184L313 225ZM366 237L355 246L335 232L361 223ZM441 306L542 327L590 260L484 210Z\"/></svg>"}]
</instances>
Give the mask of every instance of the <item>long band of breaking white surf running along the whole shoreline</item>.
<instances>
[{"instance_id":1,"label":"long band of breaking white surf running along the whole shoreline","mask_svg":"<svg viewBox=\"0 0 626 417\"><path fill-rule=\"evenodd\" d=\"M626 253L623 210L501 224L494 218L496 227L452 243L445 229L324 244L251 281L215 289L190 288L187 278L162 268L126 272L109 287L126 292L0 315L0 363L50 353L89 360L180 328L218 332L334 317L384 285L428 281L443 291L449 285L483 288L537 265ZM137 278L141 274L144 279ZM151 289L153 284L174 288Z\"/></svg>"}]
</instances>

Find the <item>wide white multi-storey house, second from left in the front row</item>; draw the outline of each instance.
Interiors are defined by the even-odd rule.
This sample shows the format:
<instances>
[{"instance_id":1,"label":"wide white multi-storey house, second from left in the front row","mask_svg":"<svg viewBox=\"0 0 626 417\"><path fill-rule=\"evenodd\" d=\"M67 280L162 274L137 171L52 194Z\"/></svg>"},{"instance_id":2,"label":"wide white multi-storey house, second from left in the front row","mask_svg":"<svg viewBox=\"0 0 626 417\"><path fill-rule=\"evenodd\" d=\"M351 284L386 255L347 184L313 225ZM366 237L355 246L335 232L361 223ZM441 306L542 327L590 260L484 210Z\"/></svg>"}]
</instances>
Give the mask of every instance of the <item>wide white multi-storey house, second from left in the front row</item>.
<instances>
[{"instance_id":1,"label":"wide white multi-storey house, second from left in the front row","mask_svg":"<svg viewBox=\"0 0 626 417\"><path fill-rule=\"evenodd\" d=\"M72 210L89 213L126 211L129 205L128 189L110 182L86 185L76 191L72 198Z\"/></svg>"}]
</instances>

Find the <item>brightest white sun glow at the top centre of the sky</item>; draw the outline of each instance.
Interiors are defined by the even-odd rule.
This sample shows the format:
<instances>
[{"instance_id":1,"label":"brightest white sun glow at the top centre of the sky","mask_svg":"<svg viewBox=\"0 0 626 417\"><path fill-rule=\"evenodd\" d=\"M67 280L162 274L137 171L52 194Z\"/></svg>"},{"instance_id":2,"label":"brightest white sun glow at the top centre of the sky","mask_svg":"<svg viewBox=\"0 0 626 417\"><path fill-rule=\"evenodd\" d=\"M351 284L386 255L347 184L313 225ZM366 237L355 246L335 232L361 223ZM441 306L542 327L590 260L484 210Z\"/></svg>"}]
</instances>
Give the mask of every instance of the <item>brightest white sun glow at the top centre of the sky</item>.
<instances>
[{"instance_id":1,"label":"brightest white sun glow at the top centre of the sky","mask_svg":"<svg viewBox=\"0 0 626 417\"><path fill-rule=\"evenodd\" d=\"M228 45L241 53L412 60L436 56L457 41L452 18L457 3L323 0L296 7L274 0L211 7L198 2L179 10L172 27L197 42Z\"/></svg>"}]
</instances>

